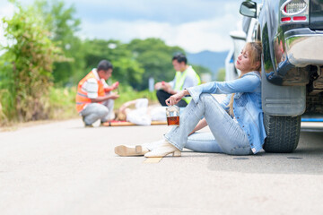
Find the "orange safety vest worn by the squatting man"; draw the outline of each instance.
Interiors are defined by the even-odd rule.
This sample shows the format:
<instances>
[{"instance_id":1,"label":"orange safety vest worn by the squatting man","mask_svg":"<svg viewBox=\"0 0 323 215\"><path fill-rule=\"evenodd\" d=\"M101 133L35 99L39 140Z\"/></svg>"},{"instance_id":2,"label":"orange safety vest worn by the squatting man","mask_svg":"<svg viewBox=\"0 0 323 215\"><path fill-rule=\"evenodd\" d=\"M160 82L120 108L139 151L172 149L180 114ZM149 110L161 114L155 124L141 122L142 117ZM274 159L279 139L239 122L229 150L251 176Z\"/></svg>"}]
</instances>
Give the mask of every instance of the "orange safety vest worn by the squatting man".
<instances>
[{"instance_id":1,"label":"orange safety vest worn by the squatting man","mask_svg":"<svg viewBox=\"0 0 323 215\"><path fill-rule=\"evenodd\" d=\"M87 92L82 90L83 83L88 81L91 78L94 78L97 80L97 78L95 77L95 75L92 71L90 73L88 73L77 85L76 110L78 113L80 113L83 110L83 108L86 104L92 103L91 99L88 98L88 96L87 96ZM100 80L97 80L97 82L99 85L98 96L99 97L105 96L103 83L100 82Z\"/></svg>"}]
</instances>

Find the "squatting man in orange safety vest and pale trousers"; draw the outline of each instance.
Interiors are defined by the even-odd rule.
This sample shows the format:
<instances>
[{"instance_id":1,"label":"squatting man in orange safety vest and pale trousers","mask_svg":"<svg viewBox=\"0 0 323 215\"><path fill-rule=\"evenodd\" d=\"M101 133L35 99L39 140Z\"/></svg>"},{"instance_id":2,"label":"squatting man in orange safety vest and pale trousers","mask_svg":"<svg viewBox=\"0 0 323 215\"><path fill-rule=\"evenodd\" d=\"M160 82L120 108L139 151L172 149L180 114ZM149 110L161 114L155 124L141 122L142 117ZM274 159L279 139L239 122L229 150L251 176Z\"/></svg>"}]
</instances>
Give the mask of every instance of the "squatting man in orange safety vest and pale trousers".
<instances>
[{"instance_id":1,"label":"squatting man in orange safety vest and pale trousers","mask_svg":"<svg viewBox=\"0 0 323 215\"><path fill-rule=\"evenodd\" d=\"M78 84L76 94L76 110L83 116L85 126L100 119L105 123L114 119L114 99L118 94L111 92L118 88L118 82L107 84L112 74L113 66L107 60L101 60L96 69L92 69Z\"/></svg>"}]
</instances>

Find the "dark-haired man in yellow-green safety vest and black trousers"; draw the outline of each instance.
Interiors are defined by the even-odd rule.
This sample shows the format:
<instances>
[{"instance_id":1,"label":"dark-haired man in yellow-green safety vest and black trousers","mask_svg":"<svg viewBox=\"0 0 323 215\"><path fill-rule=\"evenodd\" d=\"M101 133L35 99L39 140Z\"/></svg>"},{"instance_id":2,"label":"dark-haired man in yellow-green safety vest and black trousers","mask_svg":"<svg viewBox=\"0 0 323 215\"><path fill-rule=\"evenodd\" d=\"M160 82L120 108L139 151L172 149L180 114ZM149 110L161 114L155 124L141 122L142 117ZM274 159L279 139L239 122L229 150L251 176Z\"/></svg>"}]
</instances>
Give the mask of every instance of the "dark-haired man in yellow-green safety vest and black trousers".
<instances>
[{"instance_id":1,"label":"dark-haired man in yellow-green safety vest and black trousers","mask_svg":"<svg viewBox=\"0 0 323 215\"><path fill-rule=\"evenodd\" d=\"M176 70L175 78L171 82L157 82L155 89L157 90L157 99L162 106L167 106L166 99L171 95L176 94L179 90L184 90L189 87L196 86L201 83L198 74L194 71L191 65L188 65L188 59L183 54L173 56L172 64ZM186 107L191 98L183 97L177 104L179 107Z\"/></svg>"}]
</instances>

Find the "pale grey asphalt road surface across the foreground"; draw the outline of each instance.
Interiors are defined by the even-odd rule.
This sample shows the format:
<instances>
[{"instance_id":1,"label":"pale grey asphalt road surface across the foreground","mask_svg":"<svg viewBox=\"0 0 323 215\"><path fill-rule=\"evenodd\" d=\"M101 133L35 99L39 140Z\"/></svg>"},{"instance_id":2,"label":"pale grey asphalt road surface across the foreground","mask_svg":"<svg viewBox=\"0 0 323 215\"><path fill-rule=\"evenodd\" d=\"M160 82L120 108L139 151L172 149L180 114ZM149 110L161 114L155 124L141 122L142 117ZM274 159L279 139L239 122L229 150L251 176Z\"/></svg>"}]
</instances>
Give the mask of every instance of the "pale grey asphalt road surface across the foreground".
<instances>
[{"instance_id":1,"label":"pale grey asphalt road surface across the foreground","mask_svg":"<svg viewBox=\"0 0 323 215\"><path fill-rule=\"evenodd\" d=\"M302 132L292 154L114 154L167 131L77 119L2 132L0 214L323 214L323 132Z\"/></svg>"}]
</instances>

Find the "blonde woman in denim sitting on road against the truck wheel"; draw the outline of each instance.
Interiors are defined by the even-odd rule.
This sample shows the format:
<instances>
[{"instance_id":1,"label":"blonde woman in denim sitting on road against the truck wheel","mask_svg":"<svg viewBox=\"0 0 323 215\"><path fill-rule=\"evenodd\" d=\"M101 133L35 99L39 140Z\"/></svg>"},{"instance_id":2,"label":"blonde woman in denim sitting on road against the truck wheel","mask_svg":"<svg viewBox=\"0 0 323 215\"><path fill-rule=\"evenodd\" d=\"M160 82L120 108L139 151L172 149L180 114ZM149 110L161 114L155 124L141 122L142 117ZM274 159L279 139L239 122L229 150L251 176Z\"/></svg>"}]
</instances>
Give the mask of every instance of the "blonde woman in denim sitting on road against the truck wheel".
<instances>
[{"instance_id":1,"label":"blonde woman in denim sitting on road against the truck wheel","mask_svg":"<svg viewBox=\"0 0 323 215\"><path fill-rule=\"evenodd\" d=\"M209 82L181 90L166 100L172 106L186 95L192 97L179 117L179 126L164 134L164 140L143 145L120 145L120 156L180 156L183 148L231 155L256 154L266 138L261 108L261 44L247 43L236 62L240 78ZM211 94L231 94L219 103ZM204 118L200 120L202 117ZM212 133L195 133L208 125ZM192 134L191 134L192 133Z\"/></svg>"}]
</instances>

